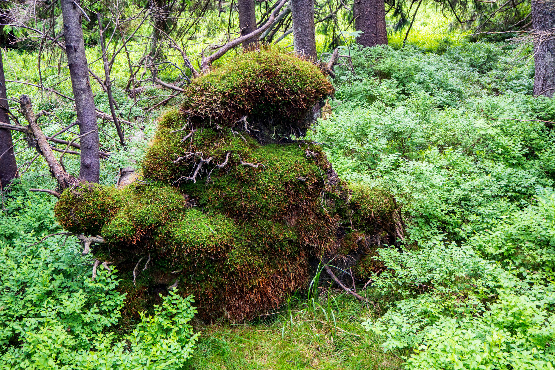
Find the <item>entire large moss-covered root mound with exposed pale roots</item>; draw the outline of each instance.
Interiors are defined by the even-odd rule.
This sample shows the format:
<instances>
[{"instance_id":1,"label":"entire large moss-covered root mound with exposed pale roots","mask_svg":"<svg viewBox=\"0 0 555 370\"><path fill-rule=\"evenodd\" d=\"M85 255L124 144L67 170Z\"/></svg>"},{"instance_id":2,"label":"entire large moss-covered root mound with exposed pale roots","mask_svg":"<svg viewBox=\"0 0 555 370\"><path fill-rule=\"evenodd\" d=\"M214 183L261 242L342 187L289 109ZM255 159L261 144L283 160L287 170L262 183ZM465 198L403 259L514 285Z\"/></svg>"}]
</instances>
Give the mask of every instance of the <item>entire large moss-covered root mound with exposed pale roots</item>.
<instances>
[{"instance_id":1,"label":"entire large moss-covered root mound with exposed pale roots","mask_svg":"<svg viewBox=\"0 0 555 370\"><path fill-rule=\"evenodd\" d=\"M311 262L360 259L387 234L394 202L385 191L348 187L318 145L255 134L257 120L301 127L331 90L305 60L246 53L196 79L184 105L164 115L143 181L64 191L58 221L102 235L93 253L117 265L125 313L178 287L204 318L242 320L301 288ZM250 118L235 125L241 115Z\"/></svg>"}]
</instances>

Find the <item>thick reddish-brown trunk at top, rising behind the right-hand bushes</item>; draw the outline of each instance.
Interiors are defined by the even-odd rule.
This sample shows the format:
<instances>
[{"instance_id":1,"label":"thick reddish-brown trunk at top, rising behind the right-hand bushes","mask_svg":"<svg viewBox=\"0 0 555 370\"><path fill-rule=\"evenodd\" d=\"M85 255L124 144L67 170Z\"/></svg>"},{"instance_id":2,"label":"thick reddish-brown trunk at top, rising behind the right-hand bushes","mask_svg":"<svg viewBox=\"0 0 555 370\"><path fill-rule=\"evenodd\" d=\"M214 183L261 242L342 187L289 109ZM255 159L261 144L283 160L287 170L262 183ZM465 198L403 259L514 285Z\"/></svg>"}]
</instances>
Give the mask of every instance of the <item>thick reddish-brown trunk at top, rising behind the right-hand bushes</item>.
<instances>
[{"instance_id":1,"label":"thick reddish-brown trunk at top, rising behind the right-hand bushes","mask_svg":"<svg viewBox=\"0 0 555 370\"><path fill-rule=\"evenodd\" d=\"M384 0L355 1L355 29L362 31L356 42L372 47L387 45Z\"/></svg>"}]
</instances>

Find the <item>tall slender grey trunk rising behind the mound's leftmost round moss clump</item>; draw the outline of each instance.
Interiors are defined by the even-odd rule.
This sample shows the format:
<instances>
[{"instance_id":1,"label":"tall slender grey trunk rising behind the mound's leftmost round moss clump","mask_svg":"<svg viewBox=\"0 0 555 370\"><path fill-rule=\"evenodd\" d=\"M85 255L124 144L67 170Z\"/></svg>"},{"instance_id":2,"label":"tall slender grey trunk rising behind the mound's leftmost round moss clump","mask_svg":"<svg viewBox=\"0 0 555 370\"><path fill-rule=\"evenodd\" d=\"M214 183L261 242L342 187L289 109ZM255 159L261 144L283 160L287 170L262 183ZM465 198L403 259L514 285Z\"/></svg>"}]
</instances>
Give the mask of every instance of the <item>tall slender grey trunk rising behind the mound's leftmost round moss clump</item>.
<instances>
[{"instance_id":1,"label":"tall slender grey trunk rising behind the mound's leftmost round moss clump","mask_svg":"<svg viewBox=\"0 0 555 370\"><path fill-rule=\"evenodd\" d=\"M60 0L64 21L65 53L68 57L69 75L75 98L75 110L79 133L94 133L79 139L81 144L81 168L79 178L98 183L100 156L98 144L97 114L94 109L93 92L90 89L87 56L81 26L81 11L72 0Z\"/></svg>"}]
</instances>

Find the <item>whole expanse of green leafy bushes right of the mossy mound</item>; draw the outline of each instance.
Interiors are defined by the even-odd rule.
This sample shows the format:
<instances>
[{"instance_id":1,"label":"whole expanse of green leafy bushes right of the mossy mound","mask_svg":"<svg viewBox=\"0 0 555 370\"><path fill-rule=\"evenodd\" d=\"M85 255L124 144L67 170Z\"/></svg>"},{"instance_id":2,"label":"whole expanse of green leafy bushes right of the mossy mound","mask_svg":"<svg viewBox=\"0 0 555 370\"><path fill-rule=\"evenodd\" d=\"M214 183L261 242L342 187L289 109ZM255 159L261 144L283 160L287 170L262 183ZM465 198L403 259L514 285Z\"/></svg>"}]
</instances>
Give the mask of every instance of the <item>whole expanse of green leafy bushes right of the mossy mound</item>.
<instances>
[{"instance_id":1,"label":"whole expanse of green leafy bushes right of the mossy mound","mask_svg":"<svg viewBox=\"0 0 555 370\"><path fill-rule=\"evenodd\" d=\"M407 369L551 369L552 99L488 43L355 50L347 99L312 138L340 176L384 189L408 240L361 260L387 312L364 320ZM517 72L520 71L520 72ZM502 92L500 95L499 92ZM379 270L378 270L379 271Z\"/></svg>"}]
</instances>

